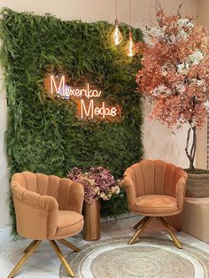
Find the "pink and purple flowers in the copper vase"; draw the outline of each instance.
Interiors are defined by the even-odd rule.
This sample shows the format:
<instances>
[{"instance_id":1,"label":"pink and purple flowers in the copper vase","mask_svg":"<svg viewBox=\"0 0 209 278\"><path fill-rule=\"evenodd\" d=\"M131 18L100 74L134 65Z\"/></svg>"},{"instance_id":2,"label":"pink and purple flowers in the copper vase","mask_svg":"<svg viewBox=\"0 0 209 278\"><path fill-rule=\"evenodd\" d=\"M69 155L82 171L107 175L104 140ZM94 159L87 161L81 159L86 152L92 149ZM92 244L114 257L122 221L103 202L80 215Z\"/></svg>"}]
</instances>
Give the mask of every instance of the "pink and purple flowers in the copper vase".
<instances>
[{"instance_id":1,"label":"pink and purple flowers in the copper vase","mask_svg":"<svg viewBox=\"0 0 209 278\"><path fill-rule=\"evenodd\" d=\"M109 200L113 194L120 193L120 180L114 180L110 170L102 166L92 167L89 172L82 173L80 168L74 167L67 178L80 182L84 188L86 202L101 197L104 201Z\"/></svg>"}]
</instances>

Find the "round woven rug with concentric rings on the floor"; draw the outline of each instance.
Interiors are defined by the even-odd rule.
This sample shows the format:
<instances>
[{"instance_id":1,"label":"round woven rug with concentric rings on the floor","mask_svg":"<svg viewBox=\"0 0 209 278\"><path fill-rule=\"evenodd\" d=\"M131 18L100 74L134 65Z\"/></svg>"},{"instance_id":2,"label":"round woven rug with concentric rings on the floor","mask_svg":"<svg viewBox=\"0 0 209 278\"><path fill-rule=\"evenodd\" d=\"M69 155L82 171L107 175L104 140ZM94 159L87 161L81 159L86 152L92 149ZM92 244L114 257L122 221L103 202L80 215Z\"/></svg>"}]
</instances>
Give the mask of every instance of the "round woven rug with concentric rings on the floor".
<instances>
[{"instance_id":1,"label":"round woven rug with concentric rings on the floor","mask_svg":"<svg viewBox=\"0 0 209 278\"><path fill-rule=\"evenodd\" d=\"M67 261L79 278L206 278L209 253L188 244L180 250L167 240L142 238L128 245L129 237L89 243ZM68 278L63 266L60 278Z\"/></svg>"}]
</instances>

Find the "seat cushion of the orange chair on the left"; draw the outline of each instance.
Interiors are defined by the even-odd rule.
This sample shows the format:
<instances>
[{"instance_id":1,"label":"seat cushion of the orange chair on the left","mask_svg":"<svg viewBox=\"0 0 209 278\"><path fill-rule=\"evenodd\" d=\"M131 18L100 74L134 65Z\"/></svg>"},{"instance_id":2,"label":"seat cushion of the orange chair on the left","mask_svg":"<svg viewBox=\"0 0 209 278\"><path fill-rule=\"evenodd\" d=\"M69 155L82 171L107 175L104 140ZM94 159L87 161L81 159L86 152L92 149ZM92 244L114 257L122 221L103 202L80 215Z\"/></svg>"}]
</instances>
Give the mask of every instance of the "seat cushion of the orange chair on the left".
<instances>
[{"instance_id":1,"label":"seat cushion of the orange chair on the left","mask_svg":"<svg viewBox=\"0 0 209 278\"><path fill-rule=\"evenodd\" d=\"M73 211L58 211L58 228L55 239L74 236L83 228L83 216Z\"/></svg>"}]
</instances>

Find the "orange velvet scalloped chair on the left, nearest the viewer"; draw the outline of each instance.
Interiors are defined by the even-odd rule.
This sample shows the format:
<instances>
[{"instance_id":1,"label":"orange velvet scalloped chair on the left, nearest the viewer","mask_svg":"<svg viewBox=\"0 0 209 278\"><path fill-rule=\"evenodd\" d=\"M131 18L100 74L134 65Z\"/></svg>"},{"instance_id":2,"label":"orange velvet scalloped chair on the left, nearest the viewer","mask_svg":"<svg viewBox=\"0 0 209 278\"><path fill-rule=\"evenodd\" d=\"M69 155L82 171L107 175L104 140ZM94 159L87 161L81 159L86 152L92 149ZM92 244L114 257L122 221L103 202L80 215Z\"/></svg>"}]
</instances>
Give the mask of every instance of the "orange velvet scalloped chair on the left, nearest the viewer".
<instances>
[{"instance_id":1,"label":"orange velvet scalloped chair on the left, nearest the viewer","mask_svg":"<svg viewBox=\"0 0 209 278\"><path fill-rule=\"evenodd\" d=\"M33 242L27 246L25 255L8 278L19 271L43 240L50 241L67 273L74 276L55 240L80 251L64 238L80 233L83 228L82 185L55 175L22 172L12 176L11 188L18 234L33 239Z\"/></svg>"}]
</instances>

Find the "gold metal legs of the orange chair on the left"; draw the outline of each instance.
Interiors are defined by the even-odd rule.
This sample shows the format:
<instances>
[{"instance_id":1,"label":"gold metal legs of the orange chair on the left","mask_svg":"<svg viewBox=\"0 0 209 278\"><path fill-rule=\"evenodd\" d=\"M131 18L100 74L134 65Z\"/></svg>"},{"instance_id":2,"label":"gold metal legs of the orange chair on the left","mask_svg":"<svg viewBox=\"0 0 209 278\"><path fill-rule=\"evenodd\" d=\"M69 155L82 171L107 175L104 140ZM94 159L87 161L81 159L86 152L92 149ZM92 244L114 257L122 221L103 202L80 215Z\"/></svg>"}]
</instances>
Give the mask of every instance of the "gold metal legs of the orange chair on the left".
<instances>
[{"instance_id":1,"label":"gold metal legs of the orange chair on the left","mask_svg":"<svg viewBox=\"0 0 209 278\"><path fill-rule=\"evenodd\" d=\"M38 245L41 243L41 240L34 240L32 243L30 243L27 248L24 250L25 255L22 257L22 259L19 260L18 264L13 268L12 272L7 276L7 278L12 278L15 276L15 274L18 273L21 266L24 265L24 263L27 261L28 257L33 254L35 249L37 249ZM66 261L66 258L64 257L62 251L58 248L58 244L54 240L49 241L53 250L57 253L58 258L61 260L63 266L66 268L66 272L71 276L74 277L74 271L71 269L69 264ZM76 252L79 252L80 249L74 246L74 244L67 242L65 239L59 239L59 243L65 244L67 247L73 249Z\"/></svg>"}]
</instances>

